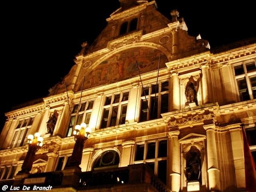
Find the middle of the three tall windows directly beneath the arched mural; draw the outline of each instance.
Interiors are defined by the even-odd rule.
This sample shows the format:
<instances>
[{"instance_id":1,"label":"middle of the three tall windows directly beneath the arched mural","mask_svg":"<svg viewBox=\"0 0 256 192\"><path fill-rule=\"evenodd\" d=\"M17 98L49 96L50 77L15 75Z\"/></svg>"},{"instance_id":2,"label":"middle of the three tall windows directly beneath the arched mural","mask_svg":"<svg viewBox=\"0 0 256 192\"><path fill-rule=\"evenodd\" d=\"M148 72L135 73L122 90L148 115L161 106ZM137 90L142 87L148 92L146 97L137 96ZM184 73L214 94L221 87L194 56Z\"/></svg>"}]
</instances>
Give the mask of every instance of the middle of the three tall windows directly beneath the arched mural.
<instances>
[{"instance_id":1,"label":"middle of the three tall windows directly beneath the arched mural","mask_svg":"<svg viewBox=\"0 0 256 192\"><path fill-rule=\"evenodd\" d=\"M129 92L112 94L105 98L100 128L125 124Z\"/></svg>"}]
</instances>

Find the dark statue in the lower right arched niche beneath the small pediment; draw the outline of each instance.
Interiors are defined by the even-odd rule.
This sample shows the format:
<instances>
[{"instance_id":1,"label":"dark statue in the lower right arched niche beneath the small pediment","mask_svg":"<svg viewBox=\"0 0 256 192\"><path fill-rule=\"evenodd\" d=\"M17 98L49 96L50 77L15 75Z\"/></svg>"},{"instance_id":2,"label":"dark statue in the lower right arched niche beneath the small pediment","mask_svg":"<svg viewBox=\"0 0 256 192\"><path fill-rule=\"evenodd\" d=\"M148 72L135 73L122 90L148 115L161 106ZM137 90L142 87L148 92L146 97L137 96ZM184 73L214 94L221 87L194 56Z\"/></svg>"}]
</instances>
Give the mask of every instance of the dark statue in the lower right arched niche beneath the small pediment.
<instances>
[{"instance_id":1,"label":"dark statue in the lower right arched niche beneath the small pediment","mask_svg":"<svg viewBox=\"0 0 256 192\"><path fill-rule=\"evenodd\" d=\"M186 180L201 182L201 153L195 146L191 146L186 153Z\"/></svg>"}]
</instances>

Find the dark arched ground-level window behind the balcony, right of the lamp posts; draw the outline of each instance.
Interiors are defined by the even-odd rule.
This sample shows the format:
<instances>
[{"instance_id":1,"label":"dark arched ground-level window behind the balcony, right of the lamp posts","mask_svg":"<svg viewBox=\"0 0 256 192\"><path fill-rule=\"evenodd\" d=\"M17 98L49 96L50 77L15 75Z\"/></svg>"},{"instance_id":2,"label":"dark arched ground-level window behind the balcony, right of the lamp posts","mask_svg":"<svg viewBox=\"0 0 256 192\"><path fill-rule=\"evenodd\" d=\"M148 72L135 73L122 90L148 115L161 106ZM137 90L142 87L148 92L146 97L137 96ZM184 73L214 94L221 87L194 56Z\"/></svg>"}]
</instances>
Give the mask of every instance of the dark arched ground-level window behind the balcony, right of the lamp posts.
<instances>
[{"instance_id":1,"label":"dark arched ground-level window behind the balcony, right of the lamp posts","mask_svg":"<svg viewBox=\"0 0 256 192\"><path fill-rule=\"evenodd\" d=\"M116 168L119 165L119 154L114 150L103 152L93 164L93 170Z\"/></svg>"}]
</instances>

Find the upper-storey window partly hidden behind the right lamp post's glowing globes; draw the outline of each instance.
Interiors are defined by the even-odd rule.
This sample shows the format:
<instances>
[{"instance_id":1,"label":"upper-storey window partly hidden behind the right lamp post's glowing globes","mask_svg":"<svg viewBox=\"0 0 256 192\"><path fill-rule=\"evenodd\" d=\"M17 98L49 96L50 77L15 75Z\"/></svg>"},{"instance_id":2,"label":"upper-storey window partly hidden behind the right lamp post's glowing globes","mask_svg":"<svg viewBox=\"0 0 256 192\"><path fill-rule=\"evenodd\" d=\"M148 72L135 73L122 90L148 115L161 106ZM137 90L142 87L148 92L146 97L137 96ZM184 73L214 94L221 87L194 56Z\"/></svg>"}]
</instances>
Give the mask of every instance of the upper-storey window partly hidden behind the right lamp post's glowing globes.
<instances>
[{"instance_id":1,"label":"upper-storey window partly hidden behind the right lamp post's glowing globes","mask_svg":"<svg viewBox=\"0 0 256 192\"><path fill-rule=\"evenodd\" d=\"M76 125L80 125L82 122L85 122L86 125L89 125L90 116L93 110L94 101L86 101L79 104L74 105L73 110L71 112L71 119L69 126L67 128L66 137L72 136L73 128Z\"/></svg>"}]
</instances>

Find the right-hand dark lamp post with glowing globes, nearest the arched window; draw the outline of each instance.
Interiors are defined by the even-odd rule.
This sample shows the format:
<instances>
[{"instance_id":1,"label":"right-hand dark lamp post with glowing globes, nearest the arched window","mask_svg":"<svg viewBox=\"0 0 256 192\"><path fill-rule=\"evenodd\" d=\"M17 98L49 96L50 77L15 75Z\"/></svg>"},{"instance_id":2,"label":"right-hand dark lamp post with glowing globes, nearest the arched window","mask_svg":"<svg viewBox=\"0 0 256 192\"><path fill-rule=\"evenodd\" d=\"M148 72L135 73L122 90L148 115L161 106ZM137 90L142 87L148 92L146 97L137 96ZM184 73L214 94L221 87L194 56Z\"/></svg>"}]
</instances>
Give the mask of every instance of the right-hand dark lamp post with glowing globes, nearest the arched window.
<instances>
[{"instance_id":1,"label":"right-hand dark lamp post with glowing globes, nearest the arched window","mask_svg":"<svg viewBox=\"0 0 256 192\"><path fill-rule=\"evenodd\" d=\"M68 167L79 167L82 160L84 142L88 139L88 135L90 134L91 129L86 127L86 123L81 123L81 125L76 125L75 130L73 131L73 135L75 137L75 145L70 157L69 162L67 162L65 169Z\"/></svg>"}]
</instances>

